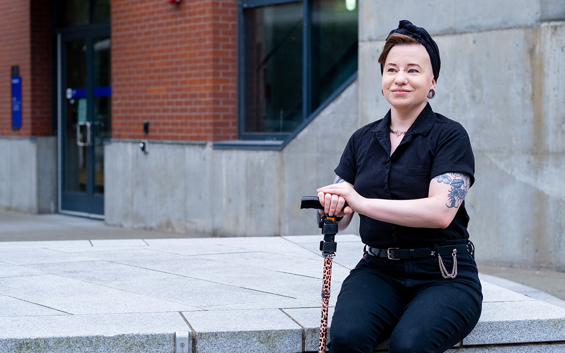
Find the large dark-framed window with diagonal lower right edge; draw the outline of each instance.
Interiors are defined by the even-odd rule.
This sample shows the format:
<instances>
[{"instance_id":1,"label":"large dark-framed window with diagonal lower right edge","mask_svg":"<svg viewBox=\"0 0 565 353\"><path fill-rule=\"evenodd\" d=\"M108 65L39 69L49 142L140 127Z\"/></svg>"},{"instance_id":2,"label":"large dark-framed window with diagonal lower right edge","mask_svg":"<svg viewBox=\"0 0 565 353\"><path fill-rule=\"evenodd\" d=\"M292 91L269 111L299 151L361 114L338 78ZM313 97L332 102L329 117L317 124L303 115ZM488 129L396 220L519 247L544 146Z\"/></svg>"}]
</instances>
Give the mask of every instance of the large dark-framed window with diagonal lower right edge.
<instances>
[{"instance_id":1,"label":"large dark-framed window with diagonal lower right edge","mask_svg":"<svg viewBox=\"0 0 565 353\"><path fill-rule=\"evenodd\" d=\"M357 41L355 0L242 1L240 138L290 137L355 75Z\"/></svg>"}]
</instances>

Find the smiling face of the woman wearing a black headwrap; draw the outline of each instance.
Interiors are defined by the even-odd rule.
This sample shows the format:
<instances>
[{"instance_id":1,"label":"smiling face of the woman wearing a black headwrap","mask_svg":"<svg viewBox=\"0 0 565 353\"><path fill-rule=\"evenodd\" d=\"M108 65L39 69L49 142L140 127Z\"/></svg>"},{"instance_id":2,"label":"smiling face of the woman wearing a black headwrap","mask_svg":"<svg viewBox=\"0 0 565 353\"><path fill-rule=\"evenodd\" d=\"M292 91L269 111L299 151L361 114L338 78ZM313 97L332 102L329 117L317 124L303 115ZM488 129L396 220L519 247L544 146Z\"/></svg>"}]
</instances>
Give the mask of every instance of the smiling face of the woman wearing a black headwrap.
<instances>
[{"instance_id":1,"label":"smiling face of the woman wearing a black headwrap","mask_svg":"<svg viewBox=\"0 0 565 353\"><path fill-rule=\"evenodd\" d=\"M432 63L423 45L393 46L383 66L383 94L397 111L422 110L436 88Z\"/></svg>"}]
</instances>

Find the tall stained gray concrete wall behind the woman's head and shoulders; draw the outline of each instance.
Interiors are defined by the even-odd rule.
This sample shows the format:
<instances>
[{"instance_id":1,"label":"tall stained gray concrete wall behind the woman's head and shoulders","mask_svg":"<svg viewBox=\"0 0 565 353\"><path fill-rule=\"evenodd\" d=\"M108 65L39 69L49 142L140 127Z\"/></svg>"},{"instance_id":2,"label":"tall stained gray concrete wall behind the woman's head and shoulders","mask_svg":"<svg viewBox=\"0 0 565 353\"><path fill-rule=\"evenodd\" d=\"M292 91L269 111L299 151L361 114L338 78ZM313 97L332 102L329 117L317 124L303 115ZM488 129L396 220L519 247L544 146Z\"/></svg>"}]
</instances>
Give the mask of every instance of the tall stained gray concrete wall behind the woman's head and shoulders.
<instances>
[{"instance_id":1,"label":"tall stained gray concrete wall behind the woman's head and shoulders","mask_svg":"<svg viewBox=\"0 0 565 353\"><path fill-rule=\"evenodd\" d=\"M388 109L386 34L400 19L427 28L442 60L432 107L466 127L475 151L466 203L477 259L565 271L565 2L386 4L359 3L360 120Z\"/></svg>"}]
</instances>

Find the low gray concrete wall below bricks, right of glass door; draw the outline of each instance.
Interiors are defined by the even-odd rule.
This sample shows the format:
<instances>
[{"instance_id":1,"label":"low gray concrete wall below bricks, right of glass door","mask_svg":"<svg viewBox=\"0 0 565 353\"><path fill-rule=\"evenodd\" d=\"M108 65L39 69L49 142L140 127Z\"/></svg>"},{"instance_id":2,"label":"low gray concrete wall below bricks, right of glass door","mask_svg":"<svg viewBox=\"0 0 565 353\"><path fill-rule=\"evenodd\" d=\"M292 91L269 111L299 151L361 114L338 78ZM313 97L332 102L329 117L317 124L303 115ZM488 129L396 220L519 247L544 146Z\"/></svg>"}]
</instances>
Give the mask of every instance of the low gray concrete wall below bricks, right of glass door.
<instances>
[{"instance_id":1,"label":"low gray concrete wall below bricks, right of glass door","mask_svg":"<svg viewBox=\"0 0 565 353\"><path fill-rule=\"evenodd\" d=\"M280 152L106 146L106 223L212 236L280 234Z\"/></svg>"}]
</instances>

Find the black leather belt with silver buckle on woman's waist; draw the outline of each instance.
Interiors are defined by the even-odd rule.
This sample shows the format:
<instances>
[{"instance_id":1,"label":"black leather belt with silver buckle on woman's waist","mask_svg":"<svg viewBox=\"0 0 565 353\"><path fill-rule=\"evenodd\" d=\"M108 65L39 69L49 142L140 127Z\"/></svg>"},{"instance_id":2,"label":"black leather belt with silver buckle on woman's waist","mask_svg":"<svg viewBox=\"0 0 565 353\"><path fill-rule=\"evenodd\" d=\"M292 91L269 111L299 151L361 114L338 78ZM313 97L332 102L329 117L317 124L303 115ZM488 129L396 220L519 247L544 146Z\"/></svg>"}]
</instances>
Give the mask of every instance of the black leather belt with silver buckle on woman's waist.
<instances>
[{"instance_id":1,"label":"black leather belt with silver buckle on woman's waist","mask_svg":"<svg viewBox=\"0 0 565 353\"><path fill-rule=\"evenodd\" d=\"M455 254L471 254L475 251L475 247L471 242L459 245L438 246L441 256ZM418 258L427 258L429 256L437 256L436 248L423 247L420 249L397 249L390 247L389 249L377 249L376 247L368 247L367 253L372 256L388 258L389 260L412 260Z\"/></svg>"}]
</instances>

